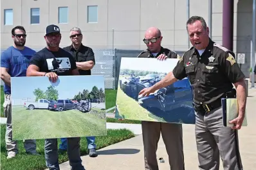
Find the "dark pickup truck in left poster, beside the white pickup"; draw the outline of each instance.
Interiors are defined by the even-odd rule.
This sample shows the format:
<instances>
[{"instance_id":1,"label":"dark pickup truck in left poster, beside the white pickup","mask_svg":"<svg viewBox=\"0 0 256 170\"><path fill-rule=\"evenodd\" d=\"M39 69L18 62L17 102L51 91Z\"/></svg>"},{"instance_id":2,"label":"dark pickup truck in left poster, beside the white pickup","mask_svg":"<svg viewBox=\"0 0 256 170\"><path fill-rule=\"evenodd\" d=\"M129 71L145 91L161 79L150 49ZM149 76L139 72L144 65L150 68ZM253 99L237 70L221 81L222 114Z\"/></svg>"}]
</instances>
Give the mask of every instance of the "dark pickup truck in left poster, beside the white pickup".
<instances>
[{"instance_id":1,"label":"dark pickup truck in left poster, beside the white pickup","mask_svg":"<svg viewBox=\"0 0 256 170\"><path fill-rule=\"evenodd\" d=\"M73 103L73 101L69 99L58 99L57 101L53 101L48 105L48 110L56 110L59 112L75 108L77 108L77 103Z\"/></svg>"}]
</instances>

